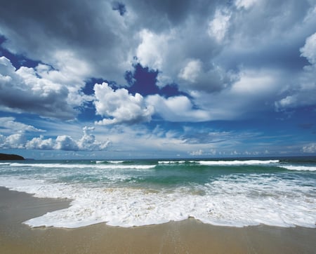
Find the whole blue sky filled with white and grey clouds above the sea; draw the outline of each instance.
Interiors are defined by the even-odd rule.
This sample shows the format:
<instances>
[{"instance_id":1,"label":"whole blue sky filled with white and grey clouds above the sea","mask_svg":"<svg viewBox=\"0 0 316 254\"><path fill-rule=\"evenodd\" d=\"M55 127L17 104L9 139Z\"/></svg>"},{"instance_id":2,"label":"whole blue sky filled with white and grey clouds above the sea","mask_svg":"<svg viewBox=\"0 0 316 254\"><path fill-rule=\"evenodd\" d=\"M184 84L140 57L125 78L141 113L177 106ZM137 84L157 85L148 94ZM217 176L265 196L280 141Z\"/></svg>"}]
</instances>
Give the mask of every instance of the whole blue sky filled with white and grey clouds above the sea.
<instances>
[{"instance_id":1,"label":"whole blue sky filled with white and grey clouds above the sea","mask_svg":"<svg viewBox=\"0 0 316 254\"><path fill-rule=\"evenodd\" d=\"M316 0L11 0L0 152L316 155Z\"/></svg>"}]
</instances>

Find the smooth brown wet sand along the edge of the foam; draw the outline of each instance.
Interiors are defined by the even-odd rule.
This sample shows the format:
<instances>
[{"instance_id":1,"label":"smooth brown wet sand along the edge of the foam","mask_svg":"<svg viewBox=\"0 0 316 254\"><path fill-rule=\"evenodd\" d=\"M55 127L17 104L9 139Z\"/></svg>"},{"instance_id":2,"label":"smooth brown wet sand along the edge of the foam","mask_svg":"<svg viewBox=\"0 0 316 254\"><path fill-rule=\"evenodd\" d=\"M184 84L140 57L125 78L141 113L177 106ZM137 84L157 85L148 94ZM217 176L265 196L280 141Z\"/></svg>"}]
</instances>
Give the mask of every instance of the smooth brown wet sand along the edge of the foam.
<instances>
[{"instance_id":1,"label":"smooth brown wet sand along the edge of the foam","mask_svg":"<svg viewBox=\"0 0 316 254\"><path fill-rule=\"evenodd\" d=\"M218 227L193 218L131 228L22 224L69 204L0 187L0 253L316 253L316 229L304 227Z\"/></svg>"}]
</instances>

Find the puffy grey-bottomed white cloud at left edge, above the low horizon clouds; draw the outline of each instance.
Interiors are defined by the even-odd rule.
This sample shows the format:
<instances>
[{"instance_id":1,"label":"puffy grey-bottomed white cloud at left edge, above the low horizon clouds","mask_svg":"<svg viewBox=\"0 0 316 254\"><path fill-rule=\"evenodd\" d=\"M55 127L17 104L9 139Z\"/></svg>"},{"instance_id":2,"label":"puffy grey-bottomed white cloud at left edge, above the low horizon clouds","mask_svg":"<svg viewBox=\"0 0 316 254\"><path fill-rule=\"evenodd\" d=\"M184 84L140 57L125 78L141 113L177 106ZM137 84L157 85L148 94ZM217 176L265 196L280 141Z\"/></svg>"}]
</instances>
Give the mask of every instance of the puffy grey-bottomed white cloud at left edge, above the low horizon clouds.
<instances>
[{"instance_id":1,"label":"puffy grey-bottomed white cloud at left edge, above the low horizon clouds","mask_svg":"<svg viewBox=\"0 0 316 254\"><path fill-rule=\"evenodd\" d=\"M15 70L8 58L0 57L0 107L13 112L73 119L77 112L68 102L67 87L40 74L37 69L28 67Z\"/></svg>"}]
</instances>

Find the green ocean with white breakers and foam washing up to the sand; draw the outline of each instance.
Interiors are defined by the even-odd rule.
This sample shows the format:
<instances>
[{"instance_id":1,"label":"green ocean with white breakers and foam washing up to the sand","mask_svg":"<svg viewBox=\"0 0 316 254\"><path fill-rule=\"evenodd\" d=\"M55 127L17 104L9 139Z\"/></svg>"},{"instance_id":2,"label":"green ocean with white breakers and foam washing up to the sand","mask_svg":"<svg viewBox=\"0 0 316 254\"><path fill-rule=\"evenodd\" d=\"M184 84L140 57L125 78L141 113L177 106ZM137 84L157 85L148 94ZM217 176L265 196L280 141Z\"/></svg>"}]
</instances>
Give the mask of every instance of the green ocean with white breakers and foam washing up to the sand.
<instances>
[{"instance_id":1,"label":"green ocean with white breakers and foam washing up to the sand","mask_svg":"<svg viewBox=\"0 0 316 254\"><path fill-rule=\"evenodd\" d=\"M230 227L316 227L316 157L3 161L0 186L72 200L69 208L24 222L31 227L187 218Z\"/></svg>"}]
</instances>

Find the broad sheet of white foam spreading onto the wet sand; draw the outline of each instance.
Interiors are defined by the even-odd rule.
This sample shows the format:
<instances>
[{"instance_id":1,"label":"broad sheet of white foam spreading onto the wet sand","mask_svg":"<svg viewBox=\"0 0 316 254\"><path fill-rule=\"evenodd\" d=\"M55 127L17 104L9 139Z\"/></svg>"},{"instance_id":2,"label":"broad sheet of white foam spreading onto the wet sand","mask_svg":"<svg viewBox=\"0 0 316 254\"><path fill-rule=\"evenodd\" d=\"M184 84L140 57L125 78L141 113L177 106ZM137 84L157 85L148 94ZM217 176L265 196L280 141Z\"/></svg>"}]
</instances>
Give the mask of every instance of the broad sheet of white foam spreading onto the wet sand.
<instances>
[{"instance_id":1,"label":"broad sheet of white foam spreading onto the wet sand","mask_svg":"<svg viewBox=\"0 0 316 254\"><path fill-rule=\"evenodd\" d=\"M132 227L194 217L213 225L315 227L312 182L280 182L277 177L230 175L195 187L137 189L52 184L44 180L0 178L0 185L38 197L73 199L70 208L27 220L32 227L82 227L99 222Z\"/></svg>"}]
</instances>

